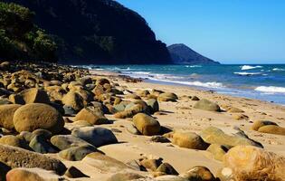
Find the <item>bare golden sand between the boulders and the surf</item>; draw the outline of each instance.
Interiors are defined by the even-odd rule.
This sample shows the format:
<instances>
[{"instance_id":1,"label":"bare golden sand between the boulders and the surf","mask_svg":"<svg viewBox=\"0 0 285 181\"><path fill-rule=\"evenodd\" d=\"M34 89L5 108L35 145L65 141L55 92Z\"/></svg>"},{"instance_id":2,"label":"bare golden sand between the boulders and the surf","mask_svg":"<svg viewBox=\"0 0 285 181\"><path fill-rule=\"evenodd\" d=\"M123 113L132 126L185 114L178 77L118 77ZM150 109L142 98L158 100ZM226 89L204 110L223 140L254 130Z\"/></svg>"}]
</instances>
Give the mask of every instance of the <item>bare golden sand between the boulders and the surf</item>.
<instances>
[{"instance_id":1,"label":"bare golden sand between the boulders and the surf","mask_svg":"<svg viewBox=\"0 0 285 181\"><path fill-rule=\"evenodd\" d=\"M109 71L91 71L91 74L105 76L106 78L118 76L117 73ZM117 78L114 83L119 83L120 87L126 90L164 90L175 92L178 95L176 102L159 102L160 112L155 117L163 126L174 130L186 130L199 134L203 129L214 126L227 134L235 132L235 128L242 129L249 138L262 144L264 149L285 157L285 137L281 135L266 134L252 130L252 123L256 120L271 120L280 127L285 127L285 107L261 100L251 100L222 95L211 91L196 90L187 86L162 85L148 82L126 82ZM223 106L233 106L243 110L243 113L212 112L207 110L194 109L195 100L189 96L197 96L200 99L212 100L223 108ZM246 115L248 119L235 119L236 116ZM112 115L107 116L114 119ZM146 157L161 157L170 163L181 173L191 167L208 167L214 174L223 167L221 161L215 160L213 155L205 150L195 150L189 148L179 148L171 143L154 143L147 136L135 136L128 132L126 128L131 124L130 120L114 119L114 124L106 125L104 128L119 129L116 133L121 144L101 147L109 157L116 157L120 161L127 163L132 159ZM87 175L94 175L92 170L86 170ZM96 175L96 174L95 174Z\"/></svg>"}]
</instances>

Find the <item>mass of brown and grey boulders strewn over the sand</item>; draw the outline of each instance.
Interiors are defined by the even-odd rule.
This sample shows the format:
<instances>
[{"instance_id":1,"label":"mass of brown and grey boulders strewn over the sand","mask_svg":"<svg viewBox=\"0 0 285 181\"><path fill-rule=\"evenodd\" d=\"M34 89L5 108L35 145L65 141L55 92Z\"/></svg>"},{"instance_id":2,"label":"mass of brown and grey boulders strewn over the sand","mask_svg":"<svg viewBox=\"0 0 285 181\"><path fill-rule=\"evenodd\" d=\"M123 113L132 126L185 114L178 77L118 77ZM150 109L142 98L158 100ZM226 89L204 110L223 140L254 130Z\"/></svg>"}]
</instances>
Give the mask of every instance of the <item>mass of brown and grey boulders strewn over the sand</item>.
<instances>
[{"instance_id":1,"label":"mass of brown and grey boulders strewn over the sand","mask_svg":"<svg viewBox=\"0 0 285 181\"><path fill-rule=\"evenodd\" d=\"M213 126L201 132L172 130L158 121L166 114L160 110L161 104L176 104L185 98L193 101L198 111L212 111L207 112L210 114L242 113L238 108L223 105L223 111L213 101L196 96L178 97L162 90L128 90L111 79L68 66L10 63L9 69L4 66L1 73L0 180L89 177L84 170L72 166L74 161L102 174L111 174L109 181L282 180L285 177L281 171L285 170L285 158L262 149L261 143L249 138L243 129L235 128L231 133ZM137 82L126 77L124 80ZM124 125L109 127L114 121ZM268 120L254 122L252 129L285 135L284 128ZM124 142L119 137L122 132L134 139L147 138L150 144L202 150L223 162L223 168L216 176L203 166L179 173L175 165L164 162L163 158L144 154L123 163L101 151ZM68 163L68 167L63 163Z\"/></svg>"}]
</instances>

